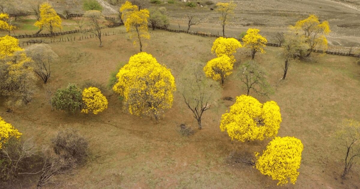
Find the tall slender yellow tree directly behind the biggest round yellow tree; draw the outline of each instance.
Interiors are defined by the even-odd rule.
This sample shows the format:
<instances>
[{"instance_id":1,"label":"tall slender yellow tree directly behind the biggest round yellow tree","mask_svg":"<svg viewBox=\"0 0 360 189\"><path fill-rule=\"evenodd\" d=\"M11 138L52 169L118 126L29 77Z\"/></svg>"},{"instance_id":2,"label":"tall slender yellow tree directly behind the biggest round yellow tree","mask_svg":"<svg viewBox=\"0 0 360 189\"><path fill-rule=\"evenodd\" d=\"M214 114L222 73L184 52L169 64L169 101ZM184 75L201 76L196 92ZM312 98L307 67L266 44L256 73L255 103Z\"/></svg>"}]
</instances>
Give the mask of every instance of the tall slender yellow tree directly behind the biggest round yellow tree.
<instances>
[{"instance_id":1,"label":"tall slender yellow tree directly behind the biggest round yellow tree","mask_svg":"<svg viewBox=\"0 0 360 189\"><path fill-rule=\"evenodd\" d=\"M134 45L139 42L140 52L142 52L143 43L141 40L150 39L148 33L149 10L138 10L138 6L126 1L125 4L120 7L120 11L122 12L122 18L125 20L126 32L130 34L130 39L136 39L134 40Z\"/></svg>"}]
</instances>

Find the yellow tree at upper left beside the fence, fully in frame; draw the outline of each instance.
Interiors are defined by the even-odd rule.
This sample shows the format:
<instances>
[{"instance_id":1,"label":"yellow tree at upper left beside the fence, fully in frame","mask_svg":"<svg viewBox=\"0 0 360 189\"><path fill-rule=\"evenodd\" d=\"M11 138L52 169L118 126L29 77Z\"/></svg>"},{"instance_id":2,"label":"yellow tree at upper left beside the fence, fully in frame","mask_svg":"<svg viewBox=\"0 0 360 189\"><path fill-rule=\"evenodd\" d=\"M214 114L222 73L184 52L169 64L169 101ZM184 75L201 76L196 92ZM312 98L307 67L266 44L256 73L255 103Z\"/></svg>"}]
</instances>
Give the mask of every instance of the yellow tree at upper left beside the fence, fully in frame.
<instances>
[{"instance_id":1,"label":"yellow tree at upper left beside the fence, fully in frame","mask_svg":"<svg viewBox=\"0 0 360 189\"><path fill-rule=\"evenodd\" d=\"M40 5L40 20L36 21L34 26L39 29L45 27L51 33L54 34L56 29L62 29L61 18L55 12L54 8L49 3L43 3Z\"/></svg>"}]
</instances>

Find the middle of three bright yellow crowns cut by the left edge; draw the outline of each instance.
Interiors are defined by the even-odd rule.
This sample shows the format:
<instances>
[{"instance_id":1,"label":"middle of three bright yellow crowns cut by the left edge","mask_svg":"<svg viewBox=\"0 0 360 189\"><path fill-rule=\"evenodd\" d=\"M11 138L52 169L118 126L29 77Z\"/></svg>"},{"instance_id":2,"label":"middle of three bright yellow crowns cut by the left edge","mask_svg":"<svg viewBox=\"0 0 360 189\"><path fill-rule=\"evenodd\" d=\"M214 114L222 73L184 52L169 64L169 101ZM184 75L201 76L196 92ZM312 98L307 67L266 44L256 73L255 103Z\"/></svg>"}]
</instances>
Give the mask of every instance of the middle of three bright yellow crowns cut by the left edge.
<instances>
[{"instance_id":1,"label":"middle of three bright yellow crowns cut by the left edge","mask_svg":"<svg viewBox=\"0 0 360 189\"><path fill-rule=\"evenodd\" d=\"M0 58L12 56L14 52L21 50L23 49L19 47L18 39L8 35L0 37Z\"/></svg>"}]
</instances>

